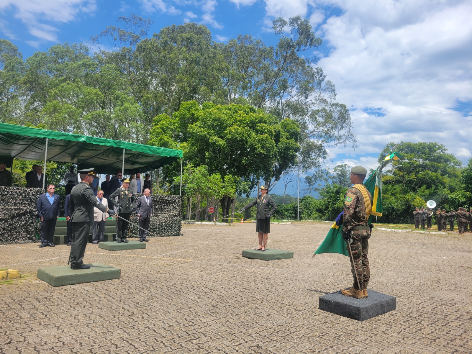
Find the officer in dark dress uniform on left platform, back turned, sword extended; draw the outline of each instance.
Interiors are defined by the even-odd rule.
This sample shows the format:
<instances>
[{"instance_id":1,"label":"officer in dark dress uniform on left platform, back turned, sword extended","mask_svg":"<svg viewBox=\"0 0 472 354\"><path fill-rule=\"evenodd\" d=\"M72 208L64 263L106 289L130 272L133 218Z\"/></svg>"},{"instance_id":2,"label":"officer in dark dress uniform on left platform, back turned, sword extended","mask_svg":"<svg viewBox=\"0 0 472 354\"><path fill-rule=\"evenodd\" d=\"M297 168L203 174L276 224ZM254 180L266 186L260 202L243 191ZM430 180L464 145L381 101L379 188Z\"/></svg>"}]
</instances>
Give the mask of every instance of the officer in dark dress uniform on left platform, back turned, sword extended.
<instances>
[{"instance_id":1,"label":"officer in dark dress uniform on left platform, back turned, sword extended","mask_svg":"<svg viewBox=\"0 0 472 354\"><path fill-rule=\"evenodd\" d=\"M80 174L80 183L70 191L69 215L72 222L72 244L70 247L70 268L89 269L84 264L85 247L90 233L90 224L93 221L93 207L100 211L114 214L113 210L97 201L90 184L93 182L93 168L77 171Z\"/></svg>"}]
</instances>

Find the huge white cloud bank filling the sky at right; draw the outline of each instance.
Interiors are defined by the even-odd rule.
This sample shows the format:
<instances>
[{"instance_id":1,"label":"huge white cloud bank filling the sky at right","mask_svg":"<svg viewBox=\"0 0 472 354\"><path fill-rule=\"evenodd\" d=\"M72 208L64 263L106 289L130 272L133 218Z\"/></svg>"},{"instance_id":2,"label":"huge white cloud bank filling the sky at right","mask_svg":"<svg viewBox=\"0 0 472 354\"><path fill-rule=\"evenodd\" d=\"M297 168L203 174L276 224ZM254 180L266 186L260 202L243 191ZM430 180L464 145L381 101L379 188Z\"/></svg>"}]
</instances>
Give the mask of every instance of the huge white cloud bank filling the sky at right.
<instances>
[{"instance_id":1,"label":"huge white cloud bank filling the sky at right","mask_svg":"<svg viewBox=\"0 0 472 354\"><path fill-rule=\"evenodd\" d=\"M467 157L472 125L450 107L472 100L472 4L339 5L343 14L321 26L332 49L319 65L336 84L337 100L354 109L357 152L379 152L390 141L436 141Z\"/></svg>"}]
</instances>

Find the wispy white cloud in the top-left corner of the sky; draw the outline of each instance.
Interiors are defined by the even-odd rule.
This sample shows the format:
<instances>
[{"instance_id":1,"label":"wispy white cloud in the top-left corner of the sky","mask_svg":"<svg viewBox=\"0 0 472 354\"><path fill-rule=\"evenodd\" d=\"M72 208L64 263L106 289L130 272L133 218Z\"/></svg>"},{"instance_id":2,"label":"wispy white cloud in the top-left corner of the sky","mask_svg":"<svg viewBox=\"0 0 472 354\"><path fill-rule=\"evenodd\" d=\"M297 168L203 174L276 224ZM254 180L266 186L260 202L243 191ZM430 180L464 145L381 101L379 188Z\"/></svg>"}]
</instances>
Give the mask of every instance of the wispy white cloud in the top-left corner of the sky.
<instances>
[{"instance_id":1,"label":"wispy white cloud in the top-left corner of the sky","mask_svg":"<svg viewBox=\"0 0 472 354\"><path fill-rule=\"evenodd\" d=\"M43 22L67 23L76 19L79 13L93 13L97 8L95 0L2 0L0 11L12 9L14 16L27 27L28 32L41 40L57 42L58 29ZM0 28L1 30L1 28ZM7 34L7 32L2 31ZM36 43L28 41L28 43Z\"/></svg>"}]
</instances>

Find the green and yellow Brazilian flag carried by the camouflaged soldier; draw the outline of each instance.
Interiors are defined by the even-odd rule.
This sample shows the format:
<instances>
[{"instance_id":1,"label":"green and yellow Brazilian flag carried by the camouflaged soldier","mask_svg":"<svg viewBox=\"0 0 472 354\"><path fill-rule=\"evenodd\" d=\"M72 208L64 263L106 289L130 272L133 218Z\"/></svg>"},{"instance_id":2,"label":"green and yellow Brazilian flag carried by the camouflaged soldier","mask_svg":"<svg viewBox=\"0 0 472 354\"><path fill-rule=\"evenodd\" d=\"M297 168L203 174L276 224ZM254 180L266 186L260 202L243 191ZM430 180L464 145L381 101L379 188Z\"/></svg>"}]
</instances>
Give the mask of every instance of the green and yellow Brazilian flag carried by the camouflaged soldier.
<instances>
[{"instance_id":1,"label":"green and yellow Brazilian flag carried by the camouflaged soldier","mask_svg":"<svg viewBox=\"0 0 472 354\"><path fill-rule=\"evenodd\" d=\"M372 213L369 217L369 225L372 223L372 218L374 216L382 216L382 170L391 160L398 160L402 157L403 155L399 152L391 152L390 155L380 162L379 167L375 169L364 182L365 188L372 195ZM324 241L320 244L320 247L315 251L315 254L339 253L349 257L349 254L346 251L346 241L344 241L341 236L342 228L342 221L339 226L334 223L329 229L328 235L326 235Z\"/></svg>"}]
</instances>

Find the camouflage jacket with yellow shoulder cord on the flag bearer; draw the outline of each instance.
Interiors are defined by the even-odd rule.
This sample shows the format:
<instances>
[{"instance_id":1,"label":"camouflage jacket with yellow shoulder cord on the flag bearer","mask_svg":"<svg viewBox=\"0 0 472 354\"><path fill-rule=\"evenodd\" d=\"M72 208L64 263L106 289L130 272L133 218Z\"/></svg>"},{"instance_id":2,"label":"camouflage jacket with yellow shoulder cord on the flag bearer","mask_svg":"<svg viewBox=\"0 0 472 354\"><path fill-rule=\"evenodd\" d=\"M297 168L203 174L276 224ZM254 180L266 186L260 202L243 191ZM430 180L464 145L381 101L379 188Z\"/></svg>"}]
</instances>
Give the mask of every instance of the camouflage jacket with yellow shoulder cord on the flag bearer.
<instances>
[{"instance_id":1,"label":"camouflage jacket with yellow shoulder cord on the flag bearer","mask_svg":"<svg viewBox=\"0 0 472 354\"><path fill-rule=\"evenodd\" d=\"M367 191L367 195L370 198L372 205L372 195ZM367 235L370 234L369 230L362 230L355 228L365 227L368 228L368 216L366 202L362 192L354 187L347 190L344 198L344 215L343 215L343 232L353 232L353 235ZM354 229L354 230L353 230Z\"/></svg>"}]
</instances>

